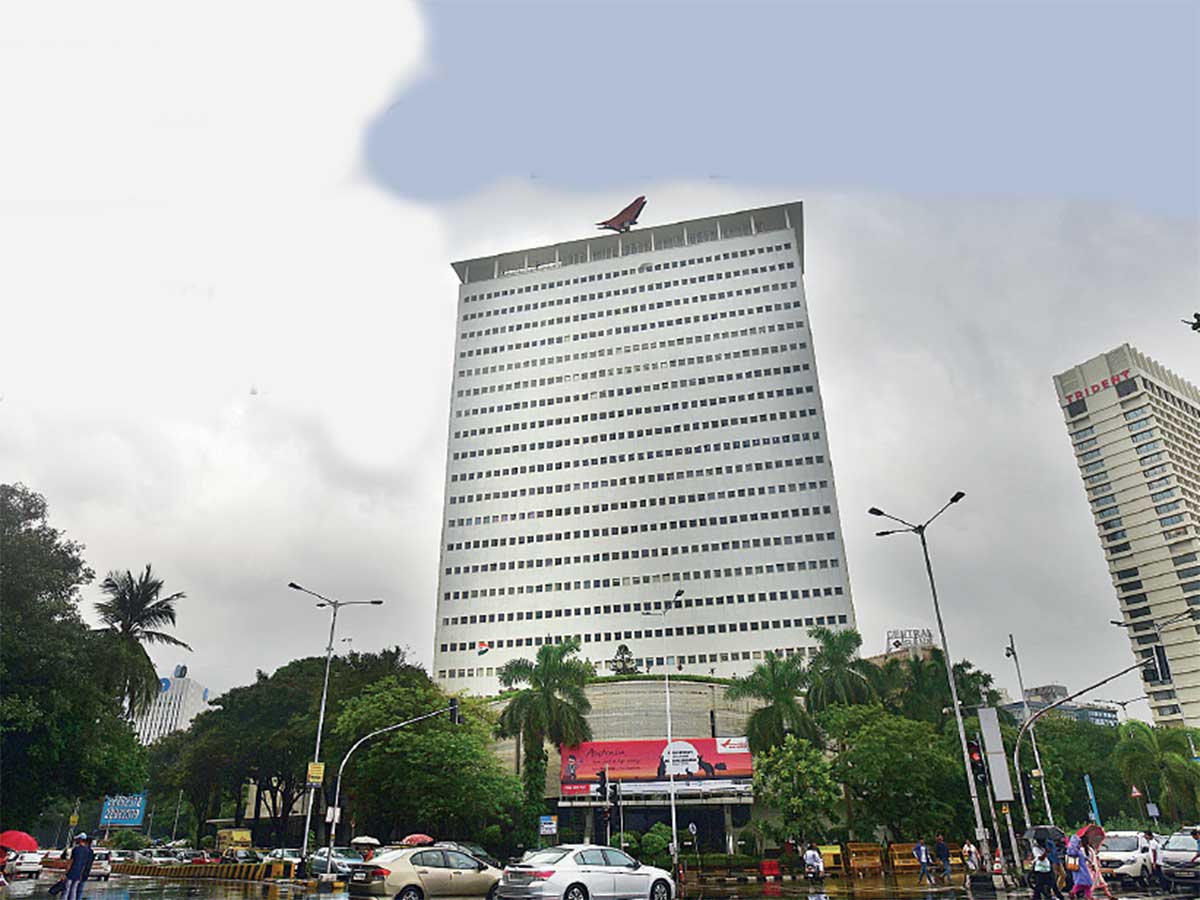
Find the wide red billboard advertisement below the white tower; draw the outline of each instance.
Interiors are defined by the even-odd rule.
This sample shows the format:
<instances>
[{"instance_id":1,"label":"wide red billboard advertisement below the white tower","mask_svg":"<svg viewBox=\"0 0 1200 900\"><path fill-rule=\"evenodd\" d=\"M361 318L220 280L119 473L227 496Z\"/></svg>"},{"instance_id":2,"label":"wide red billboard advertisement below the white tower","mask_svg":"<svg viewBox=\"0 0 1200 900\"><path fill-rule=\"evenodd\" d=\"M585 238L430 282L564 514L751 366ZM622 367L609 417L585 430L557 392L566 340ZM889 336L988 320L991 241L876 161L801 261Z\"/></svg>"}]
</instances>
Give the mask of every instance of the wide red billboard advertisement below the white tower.
<instances>
[{"instance_id":1,"label":"wide red billboard advertisement below the white tower","mask_svg":"<svg viewBox=\"0 0 1200 900\"><path fill-rule=\"evenodd\" d=\"M564 797L598 797L600 775L620 784L623 796L750 793L754 768L745 738L593 740L562 749Z\"/></svg>"}]
</instances>

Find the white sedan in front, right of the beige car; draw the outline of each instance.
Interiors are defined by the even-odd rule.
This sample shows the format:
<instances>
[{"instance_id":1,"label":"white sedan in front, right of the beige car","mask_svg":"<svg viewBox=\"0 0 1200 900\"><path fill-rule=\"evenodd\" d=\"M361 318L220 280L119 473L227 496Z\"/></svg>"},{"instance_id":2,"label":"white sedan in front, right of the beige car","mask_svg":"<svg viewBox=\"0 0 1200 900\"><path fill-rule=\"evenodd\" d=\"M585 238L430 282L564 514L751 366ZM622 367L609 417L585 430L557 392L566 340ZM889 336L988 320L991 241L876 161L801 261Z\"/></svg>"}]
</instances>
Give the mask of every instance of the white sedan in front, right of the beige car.
<instances>
[{"instance_id":1,"label":"white sedan in front, right of the beige car","mask_svg":"<svg viewBox=\"0 0 1200 900\"><path fill-rule=\"evenodd\" d=\"M500 900L673 900L671 872L595 844L563 844L504 870Z\"/></svg>"}]
</instances>

